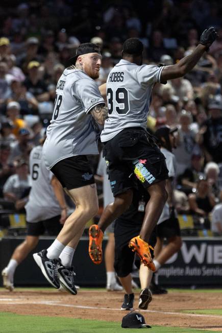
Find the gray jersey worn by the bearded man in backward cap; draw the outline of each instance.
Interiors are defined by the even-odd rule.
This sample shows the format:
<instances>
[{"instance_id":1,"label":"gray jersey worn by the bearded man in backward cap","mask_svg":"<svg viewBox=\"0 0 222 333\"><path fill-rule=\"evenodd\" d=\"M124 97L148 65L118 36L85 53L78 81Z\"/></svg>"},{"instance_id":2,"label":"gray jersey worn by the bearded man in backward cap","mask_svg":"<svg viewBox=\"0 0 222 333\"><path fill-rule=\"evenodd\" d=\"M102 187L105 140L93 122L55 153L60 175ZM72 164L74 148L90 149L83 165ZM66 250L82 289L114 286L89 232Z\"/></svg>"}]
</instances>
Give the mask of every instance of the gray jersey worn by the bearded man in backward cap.
<instances>
[{"instance_id":1,"label":"gray jersey worn by the bearded man in backward cap","mask_svg":"<svg viewBox=\"0 0 222 333\"><path fill-rule=\"evenodd\" d=\"M67 157L98 154L98 127L89 111L101 103L104 99L93 79L79 69L64 70L57 84L53 118L43 146L47 169Z\"/></svg>"}]
</instances>

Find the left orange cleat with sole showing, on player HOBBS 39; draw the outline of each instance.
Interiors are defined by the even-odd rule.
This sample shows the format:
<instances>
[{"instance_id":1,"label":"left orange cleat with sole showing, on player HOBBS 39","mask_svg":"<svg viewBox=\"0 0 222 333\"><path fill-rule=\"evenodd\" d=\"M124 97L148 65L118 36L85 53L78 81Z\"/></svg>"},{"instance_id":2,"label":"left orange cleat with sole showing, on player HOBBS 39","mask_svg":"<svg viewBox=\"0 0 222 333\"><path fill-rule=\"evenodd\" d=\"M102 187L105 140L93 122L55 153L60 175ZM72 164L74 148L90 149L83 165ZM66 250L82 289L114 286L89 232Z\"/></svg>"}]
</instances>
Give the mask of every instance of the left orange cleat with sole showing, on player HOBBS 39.
<instances>
[{"instance_id":1,"label":"left orange cleat with sole showing, on player HOBBS 39","mask_svg":"<svg viewBox=\"0 0 222 333\"><path fill-rule=\"evenodd\" d=\"M91 225L89 228L89 256L96 265L102 263L102 242L103 231L97 226L97 224Z\"/></svg>"}]
</instances>

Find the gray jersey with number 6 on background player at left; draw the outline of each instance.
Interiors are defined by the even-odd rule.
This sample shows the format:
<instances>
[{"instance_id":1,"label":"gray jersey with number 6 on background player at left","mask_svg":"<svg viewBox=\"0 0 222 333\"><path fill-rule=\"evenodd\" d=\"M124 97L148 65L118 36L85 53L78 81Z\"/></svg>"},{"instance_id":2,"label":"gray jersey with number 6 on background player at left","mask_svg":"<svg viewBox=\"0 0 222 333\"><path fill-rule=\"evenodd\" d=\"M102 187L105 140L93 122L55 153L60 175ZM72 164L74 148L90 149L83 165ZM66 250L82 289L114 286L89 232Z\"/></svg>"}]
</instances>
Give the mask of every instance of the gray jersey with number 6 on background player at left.
<instances>
[{"instance_id":1,"label":"gray jersey with number 6 on background player at left","mask_svg":"<svg viewBox=\"0 0 222 333\"><path fill-rule=\"evenodd\" d=\"M28 222L39 222L61 214L59 202L51 185L53 173L45 168L42 146L34 147L30 153L32 188L26 204Z\"/></svg>"}]
</instances>

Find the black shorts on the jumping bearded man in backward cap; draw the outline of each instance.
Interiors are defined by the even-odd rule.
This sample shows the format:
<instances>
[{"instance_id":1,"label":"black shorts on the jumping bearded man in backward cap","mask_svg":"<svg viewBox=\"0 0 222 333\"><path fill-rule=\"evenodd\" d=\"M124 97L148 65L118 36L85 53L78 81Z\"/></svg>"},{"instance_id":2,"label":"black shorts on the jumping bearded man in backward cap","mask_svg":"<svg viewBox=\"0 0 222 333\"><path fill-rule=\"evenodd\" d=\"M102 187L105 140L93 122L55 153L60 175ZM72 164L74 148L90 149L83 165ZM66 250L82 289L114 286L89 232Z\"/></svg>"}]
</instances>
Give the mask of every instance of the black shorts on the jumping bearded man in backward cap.
<instances>
[{"instance_id":1,"label":"black shorts on the jumping bearded man in backward cap","mask_svg":"<svg viewBox=\"0 0 222 333\"><path fill-rule=\"evenodd\" d=\"M94 176L87 155L72 156L62 159L51 169L62 187L78 188L94 184Z\"/></svg>"}]
</instances>

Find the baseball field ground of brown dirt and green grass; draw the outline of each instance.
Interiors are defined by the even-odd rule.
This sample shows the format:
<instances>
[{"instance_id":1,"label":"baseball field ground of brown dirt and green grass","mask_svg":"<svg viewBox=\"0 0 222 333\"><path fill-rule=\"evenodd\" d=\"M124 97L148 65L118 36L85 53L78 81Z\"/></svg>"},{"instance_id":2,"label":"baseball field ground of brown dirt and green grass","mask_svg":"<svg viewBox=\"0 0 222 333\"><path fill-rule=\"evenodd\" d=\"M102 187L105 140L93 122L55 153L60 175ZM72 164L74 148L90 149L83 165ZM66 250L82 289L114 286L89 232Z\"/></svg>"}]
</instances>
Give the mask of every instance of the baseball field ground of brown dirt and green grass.
<instances>
[{"instance_id":1,"label":"baseball field ground of brown dirt and green grass","mask_svg":"<svg viewBox=\"0 0 222 333\"><path fill-rule=\"evenodd\" d=\"M221 294L222 289L169 289L167 296L155 296L149 310L141 313L152 326L150 332L222 332ZM74 297L52 288L16 288L13 293L0 288L0 333L137 332L138 329L121 328L121 318L127 314L119 311L122 295L102 288L81 288ZM93 297L98 303L92 302ZM215 303L209 304L207 298L215 299ZM172 307L179 300L178 307Z\"/></svg>"}]
</instances>

